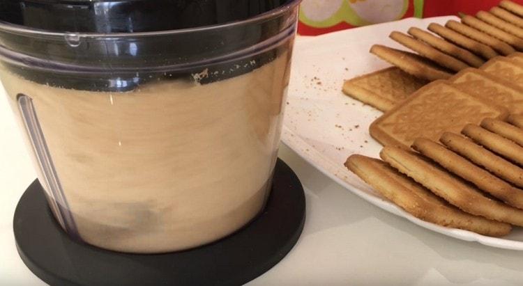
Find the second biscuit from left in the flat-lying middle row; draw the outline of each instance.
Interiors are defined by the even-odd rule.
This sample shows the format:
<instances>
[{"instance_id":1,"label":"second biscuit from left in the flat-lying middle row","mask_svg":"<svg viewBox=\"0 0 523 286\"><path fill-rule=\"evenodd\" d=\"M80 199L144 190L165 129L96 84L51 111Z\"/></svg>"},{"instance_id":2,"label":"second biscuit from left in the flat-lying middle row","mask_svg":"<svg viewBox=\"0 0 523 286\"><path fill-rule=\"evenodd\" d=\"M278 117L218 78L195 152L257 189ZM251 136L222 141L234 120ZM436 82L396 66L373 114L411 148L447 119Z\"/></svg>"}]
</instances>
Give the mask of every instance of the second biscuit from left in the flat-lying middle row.
<instances>
[{"instance_id":1,"label":"second biscuit from left in the flat-lying middle row","mask_svg":"<svg viewBox=\"0 0 523 286\"><path fill-rule=\"evenodd\" d=\"M448 81L465 93L492 100L506 107L510 113L523 112L523 88L510 81L492 77L483 70L475 68L462 70Z\"/></svg>"}]
</instances>

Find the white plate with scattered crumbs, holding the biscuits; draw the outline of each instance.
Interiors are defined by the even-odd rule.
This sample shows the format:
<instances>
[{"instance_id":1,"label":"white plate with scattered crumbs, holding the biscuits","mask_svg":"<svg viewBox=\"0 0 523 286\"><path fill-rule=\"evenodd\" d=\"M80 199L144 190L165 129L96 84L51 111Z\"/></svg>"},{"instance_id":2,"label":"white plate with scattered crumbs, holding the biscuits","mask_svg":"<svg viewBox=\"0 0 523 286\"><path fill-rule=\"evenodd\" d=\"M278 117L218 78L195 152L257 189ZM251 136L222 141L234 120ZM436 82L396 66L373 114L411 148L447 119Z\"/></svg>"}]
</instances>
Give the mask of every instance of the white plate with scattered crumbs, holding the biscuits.
<instances>
[{"instance_id":1,"label":"white plate with scattered crumbs, holding the biscuits","mask_svg":"<svg viewBox=\"0 0 523 286\"><path fill-rule=\"evenodd\" d=\"M431 22L444 24L448 19L457 17L410 18L318 37L298 37L282 141L322 173L388 212L457 239L523 250L523 228L494 238L421 221L381 197L343 166L350 154L379 157L381 150L368 132L370 123L381 112L344 95L343 80L388 66L368 51L373 44L402 48L388 38L391 31L405 32L411 26L425 29Z\"/></svg>"}]
</instances>

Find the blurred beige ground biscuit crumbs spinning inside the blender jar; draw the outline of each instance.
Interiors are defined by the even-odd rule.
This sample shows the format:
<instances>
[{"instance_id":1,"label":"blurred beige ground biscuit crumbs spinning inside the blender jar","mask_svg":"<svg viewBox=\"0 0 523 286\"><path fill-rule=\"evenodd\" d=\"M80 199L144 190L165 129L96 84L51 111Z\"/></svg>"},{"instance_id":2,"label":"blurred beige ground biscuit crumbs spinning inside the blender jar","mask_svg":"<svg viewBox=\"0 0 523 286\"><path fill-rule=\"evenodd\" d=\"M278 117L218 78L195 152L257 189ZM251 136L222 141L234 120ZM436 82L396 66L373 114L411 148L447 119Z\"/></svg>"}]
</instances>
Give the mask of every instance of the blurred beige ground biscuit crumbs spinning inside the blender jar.
<instances>
[{"instance_id":1,"label":"blurred beige ground biscuit crumbs spinning inside the blender jar","mask_svg":"<svg viewBox=\"0 0 523 286\"><path fill-rule=\"evenodd\" d=\"M157 253L229 235L264 206L289 57L212 84L158 81L128 93L0 75L19 118L17 95L32 98L79 236Z\"/></svg>"}]
</instances>

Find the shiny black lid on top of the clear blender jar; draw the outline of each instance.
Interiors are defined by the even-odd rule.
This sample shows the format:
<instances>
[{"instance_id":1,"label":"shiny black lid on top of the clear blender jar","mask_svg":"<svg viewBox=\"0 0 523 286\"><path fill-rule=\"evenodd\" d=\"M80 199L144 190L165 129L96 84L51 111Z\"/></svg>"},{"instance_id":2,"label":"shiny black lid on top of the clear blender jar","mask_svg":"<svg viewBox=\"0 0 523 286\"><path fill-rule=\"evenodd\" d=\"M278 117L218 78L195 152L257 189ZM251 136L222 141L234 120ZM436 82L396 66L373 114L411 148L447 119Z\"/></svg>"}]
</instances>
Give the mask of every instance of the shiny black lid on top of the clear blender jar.
<instances>
[{"instance_id":1,"label":"shiny black lid on top of the clear blender jar","mask_svg":"<svg viewBox=\"0 0 523 286\"><path fill-rule=\"evenodd\" d=\"M223 24L288 0L0 0L0 21L47 31L130 33Z\"/></svg>"}]
</instances>

